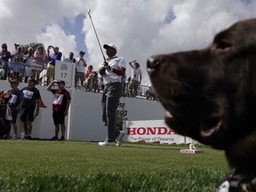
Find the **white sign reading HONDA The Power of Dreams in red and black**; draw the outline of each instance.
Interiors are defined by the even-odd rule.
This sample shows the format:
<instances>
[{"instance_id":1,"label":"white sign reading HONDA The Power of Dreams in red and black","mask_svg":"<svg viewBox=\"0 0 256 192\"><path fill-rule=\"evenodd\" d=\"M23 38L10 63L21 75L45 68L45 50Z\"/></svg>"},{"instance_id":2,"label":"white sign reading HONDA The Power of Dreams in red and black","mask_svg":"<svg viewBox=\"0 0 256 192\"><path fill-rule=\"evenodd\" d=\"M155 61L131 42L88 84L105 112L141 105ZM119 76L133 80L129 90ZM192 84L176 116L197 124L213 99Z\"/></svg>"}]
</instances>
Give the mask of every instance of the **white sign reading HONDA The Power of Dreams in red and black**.
<instances>
[{"instance_id":1,"label":"white sign reading HONDA The Power of Dreams in red and black","mask_svg":"<svg viewBox=\"0 0 256 192\"><path fill-rule=\"evenodd\" d=\"M190 143L192 140L183 137L168 128L164 120L126 121L124 141L151 143Z\"/></svg>"}]
</instances>

